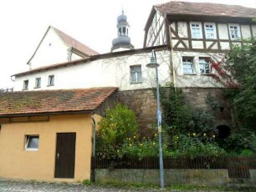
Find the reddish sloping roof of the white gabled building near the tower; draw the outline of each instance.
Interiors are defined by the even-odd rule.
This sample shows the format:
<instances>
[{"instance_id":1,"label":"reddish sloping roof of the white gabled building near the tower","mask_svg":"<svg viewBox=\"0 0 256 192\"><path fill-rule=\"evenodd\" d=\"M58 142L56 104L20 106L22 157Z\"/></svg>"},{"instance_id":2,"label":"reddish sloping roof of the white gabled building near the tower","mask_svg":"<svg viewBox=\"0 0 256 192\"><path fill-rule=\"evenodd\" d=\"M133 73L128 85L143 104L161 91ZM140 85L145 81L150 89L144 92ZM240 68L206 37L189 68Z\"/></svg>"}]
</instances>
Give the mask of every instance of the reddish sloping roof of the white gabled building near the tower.
<instances>
[{"instance_id":1,"label":"reddish sloping roof of the white gabled building near the tower","mask_svg":"<svg viewBox=\"0 0 256 192\"><path fill-rule=\"evenodd\" d=\"M51 28L54 28L54 27L51 26ZM63 33L58 28L54 28L54 30L55 30L56 33L59 34L59 37L62 38L64 43L67 43L72 48L75 48L75 49L79 50L80 52L85 53L88 56L99 54L95 50L93 50L93 49L87 47L86 45L84 45L83 43L79 43L79 41L75 40L74 38L71 38L66 33Z\"/></svg>"}]
</instances>

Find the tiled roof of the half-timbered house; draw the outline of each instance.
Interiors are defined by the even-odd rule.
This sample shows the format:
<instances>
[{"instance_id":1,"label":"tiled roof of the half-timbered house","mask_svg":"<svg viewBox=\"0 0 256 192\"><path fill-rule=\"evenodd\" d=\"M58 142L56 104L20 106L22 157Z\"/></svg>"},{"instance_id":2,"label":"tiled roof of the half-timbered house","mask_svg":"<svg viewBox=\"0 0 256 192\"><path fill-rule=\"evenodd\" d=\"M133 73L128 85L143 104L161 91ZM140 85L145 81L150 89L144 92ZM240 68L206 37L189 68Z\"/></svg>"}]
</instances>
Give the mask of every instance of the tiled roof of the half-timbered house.
<instances>
[{"instance_id":1,"label":"tiled roof of the half-timbered house","mask_svg":"<svg viewBox=\"0 0 256 192\"><path fill-rule=\"evenodd\" d=\"M246 8L238 5L227 5L218 3L191 3L172 1L156 5L160 13L181 15L203 15L203 16L226 16L238 18L256 17L255 8Z\"/></svg>"}]
</instances>

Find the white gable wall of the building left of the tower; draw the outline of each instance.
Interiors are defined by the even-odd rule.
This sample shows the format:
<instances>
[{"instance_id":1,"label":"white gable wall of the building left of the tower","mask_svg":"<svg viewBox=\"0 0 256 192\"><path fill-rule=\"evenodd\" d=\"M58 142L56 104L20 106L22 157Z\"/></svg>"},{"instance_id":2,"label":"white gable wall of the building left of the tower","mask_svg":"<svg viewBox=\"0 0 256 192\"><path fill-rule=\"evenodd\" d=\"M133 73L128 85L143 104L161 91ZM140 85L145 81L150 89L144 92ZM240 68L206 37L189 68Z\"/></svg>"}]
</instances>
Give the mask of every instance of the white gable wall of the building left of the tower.
<instances>
[{"instance_id":1,"label":"white gable wall of the building left of the tower","mask_svg":"<svg viewBox=\"0 0 256 192\"><path fill-rule=\"evenodd\" d=\"M54 33L53 29L50 28L37 53L30 61L31 67L38 68L68 61L68 48L59 36Z\"/></svg>"}]
</instances>

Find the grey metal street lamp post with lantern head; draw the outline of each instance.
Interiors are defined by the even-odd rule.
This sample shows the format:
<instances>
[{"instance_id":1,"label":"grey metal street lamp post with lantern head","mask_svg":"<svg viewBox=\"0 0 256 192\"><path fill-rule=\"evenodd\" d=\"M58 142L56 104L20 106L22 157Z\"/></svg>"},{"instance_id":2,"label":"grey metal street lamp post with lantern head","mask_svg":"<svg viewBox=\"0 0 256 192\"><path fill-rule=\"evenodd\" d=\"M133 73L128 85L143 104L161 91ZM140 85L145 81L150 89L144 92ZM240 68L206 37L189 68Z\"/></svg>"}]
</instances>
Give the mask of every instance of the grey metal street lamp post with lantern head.
<instances>
[{"instance_id":1,"label":"grey metal street lamp post with lantern head","mask_svg":"<svg viewBox=\"0 0 256 192\"><path fill-rule=\"evenodd\" d=\"M164 174L163 174L163 159L162 159L162 149L161 149L161 109L160 109L160 94L159 94L159 84L158 84L158 67L159 64L156 63L156 52L153 49L151 54L151 63L146 64L147 68L156 68L156 104L157 104L157 129L158 129L158 142L159 142L159 167L160 167L160 185L161 189L164 188Z\"/></svg>"}]
</instances>

